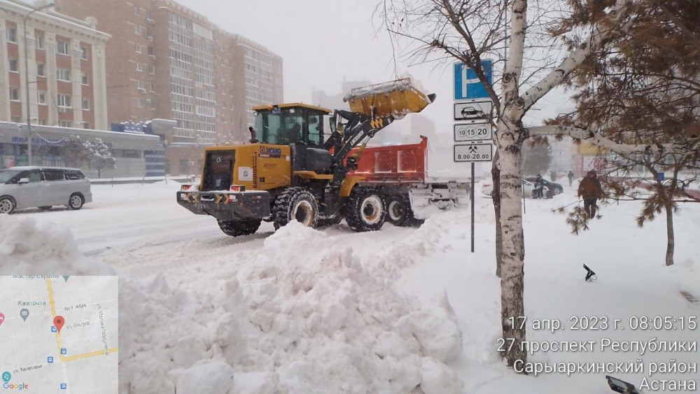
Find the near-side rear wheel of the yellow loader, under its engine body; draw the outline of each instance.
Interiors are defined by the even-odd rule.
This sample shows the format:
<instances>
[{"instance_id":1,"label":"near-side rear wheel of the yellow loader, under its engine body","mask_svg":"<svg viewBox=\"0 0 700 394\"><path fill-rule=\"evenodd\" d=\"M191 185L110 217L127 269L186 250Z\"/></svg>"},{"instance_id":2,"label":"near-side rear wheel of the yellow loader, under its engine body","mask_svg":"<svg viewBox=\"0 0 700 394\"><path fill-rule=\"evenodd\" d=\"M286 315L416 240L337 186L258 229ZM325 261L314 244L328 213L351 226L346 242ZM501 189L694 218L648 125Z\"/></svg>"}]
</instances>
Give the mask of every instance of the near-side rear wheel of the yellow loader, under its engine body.
<instances>
[{"instance_id":1,"label":"near-side rear wheel of the yellow loader, under its engine body","mask_svg":"<svg viewBox=\"0 0 700 394\"><path fill-rule=\"evenodd\" d=\"M272 221L275 230L292 220L311 228L318 225L316 197L307 188L286 188L274 200Z\"/></svg>"}]
</instances>

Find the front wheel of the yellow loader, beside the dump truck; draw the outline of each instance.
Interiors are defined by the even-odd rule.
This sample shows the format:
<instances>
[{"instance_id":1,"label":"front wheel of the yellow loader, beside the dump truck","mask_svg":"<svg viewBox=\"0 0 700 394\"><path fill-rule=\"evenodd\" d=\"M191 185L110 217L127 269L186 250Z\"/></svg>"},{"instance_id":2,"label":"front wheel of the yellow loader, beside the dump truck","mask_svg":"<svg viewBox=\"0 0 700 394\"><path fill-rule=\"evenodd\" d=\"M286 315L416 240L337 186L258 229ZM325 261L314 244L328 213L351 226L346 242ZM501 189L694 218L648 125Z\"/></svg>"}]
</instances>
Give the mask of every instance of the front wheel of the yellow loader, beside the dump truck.
<instances>
[{"instance_id":1,"label":"front wheel of the yellow loader, beside the dump truck","mask_svg":"<svg viewBox=\"0 0 700 394\"><path fill-rule=\"evenodd\" d=\"M353 191L345 202L344 216L354 231L377 231L386 219L384 199L373 190Z\"/></svg>"}]
</instances>

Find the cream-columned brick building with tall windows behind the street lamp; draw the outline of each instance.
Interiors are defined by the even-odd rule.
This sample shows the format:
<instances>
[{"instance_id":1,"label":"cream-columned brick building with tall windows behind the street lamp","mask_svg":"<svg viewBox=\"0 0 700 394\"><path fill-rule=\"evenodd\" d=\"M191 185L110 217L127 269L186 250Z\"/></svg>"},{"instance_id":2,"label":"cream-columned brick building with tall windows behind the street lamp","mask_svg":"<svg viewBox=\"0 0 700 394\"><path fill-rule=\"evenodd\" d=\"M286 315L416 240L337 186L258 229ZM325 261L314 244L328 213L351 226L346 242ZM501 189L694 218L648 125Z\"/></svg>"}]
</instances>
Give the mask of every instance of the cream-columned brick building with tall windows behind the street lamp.
<instances>
[{"instance_id":1,"label":"cream-columned brick building with tall windows behind the street lamp","mask_svg":"<svg viewBox=\"0 0 700 394\"><path fill-rule=\"evenodd\" d=\"M76 20L49 6L34 9L0 0L0 92L6 94L0 121L23 123L29 115L34 125L107 129L109 34L97 31L94 18Z\"/></svg>"}]
</instances>

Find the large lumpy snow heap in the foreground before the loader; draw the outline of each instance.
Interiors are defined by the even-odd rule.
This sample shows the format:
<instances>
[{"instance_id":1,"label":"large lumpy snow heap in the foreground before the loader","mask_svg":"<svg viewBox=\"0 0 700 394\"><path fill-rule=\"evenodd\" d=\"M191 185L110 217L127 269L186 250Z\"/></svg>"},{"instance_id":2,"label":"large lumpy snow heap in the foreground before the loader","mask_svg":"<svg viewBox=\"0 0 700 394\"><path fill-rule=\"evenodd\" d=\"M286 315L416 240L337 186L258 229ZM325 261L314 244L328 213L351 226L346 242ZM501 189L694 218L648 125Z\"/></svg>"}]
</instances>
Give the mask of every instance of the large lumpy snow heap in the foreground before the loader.
<instances>
[{"instance_id":1,"label":"large lumpy snow heap in the foreground before the loader","mask_svg":"<svg viewBox=\"0 0 700 394\"><path fill-rule=\"evenodd\" d=\"M120 340L133 343L120 351L120 392L461 392L444 364L462 342L447 300L421 310L385 279L292 223L243 267L177 284L123 280L120 318L132 330Z\"/></svg>"}]
</instances>

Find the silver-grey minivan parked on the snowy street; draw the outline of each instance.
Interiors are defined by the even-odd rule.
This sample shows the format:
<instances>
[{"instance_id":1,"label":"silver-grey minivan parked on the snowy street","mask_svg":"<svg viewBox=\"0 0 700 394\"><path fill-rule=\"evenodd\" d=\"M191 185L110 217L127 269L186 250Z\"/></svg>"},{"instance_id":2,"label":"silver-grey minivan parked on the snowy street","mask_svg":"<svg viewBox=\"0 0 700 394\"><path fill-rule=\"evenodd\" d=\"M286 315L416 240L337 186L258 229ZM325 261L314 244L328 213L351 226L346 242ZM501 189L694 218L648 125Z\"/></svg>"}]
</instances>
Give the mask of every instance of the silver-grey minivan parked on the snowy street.
<instances>
[{"instance_id":1,"label":"silver-grey minivan parked on the snowy street","mask_svg":"<svg viewBox=\"0 0 700 394\"><path fill-rule=\"evenodd\" d=\"M83 208L92 202L90 181L80 169L59 167L13 167L0 170L0 213L15 209L52 206Z\"/></svg>"}]
</instances>

